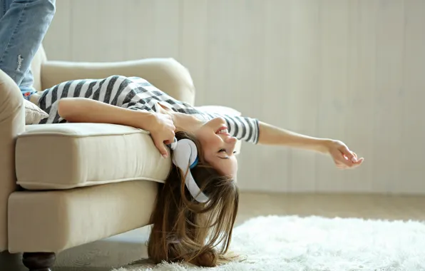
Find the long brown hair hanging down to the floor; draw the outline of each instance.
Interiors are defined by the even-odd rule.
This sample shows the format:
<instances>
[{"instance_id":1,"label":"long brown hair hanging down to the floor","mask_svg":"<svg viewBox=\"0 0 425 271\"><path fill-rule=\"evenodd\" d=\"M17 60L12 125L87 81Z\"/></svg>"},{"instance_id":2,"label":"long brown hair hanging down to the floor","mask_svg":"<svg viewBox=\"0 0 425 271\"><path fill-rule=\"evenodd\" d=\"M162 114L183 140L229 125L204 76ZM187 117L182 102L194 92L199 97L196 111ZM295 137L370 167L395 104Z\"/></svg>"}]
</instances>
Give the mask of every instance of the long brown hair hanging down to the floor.
<instances>
[{"instance_id":1,"label":"long brown hair hanging down to the floor","mask_svg":"<svg viewBox=\"0 0 425 271\"><path fill-rule=\"evenodd\" d=\"M198 140L183 132L175 137L195 142L199 161L191 173L209 200L198 203L185 187L186 173L173 165L165 184L158 185L148 256L155 263L185 261L203 267L228 262L232 259L226 254L237 215L239 190L232 178L220 175L205 162Z\"/></svg>"}]
</instances>

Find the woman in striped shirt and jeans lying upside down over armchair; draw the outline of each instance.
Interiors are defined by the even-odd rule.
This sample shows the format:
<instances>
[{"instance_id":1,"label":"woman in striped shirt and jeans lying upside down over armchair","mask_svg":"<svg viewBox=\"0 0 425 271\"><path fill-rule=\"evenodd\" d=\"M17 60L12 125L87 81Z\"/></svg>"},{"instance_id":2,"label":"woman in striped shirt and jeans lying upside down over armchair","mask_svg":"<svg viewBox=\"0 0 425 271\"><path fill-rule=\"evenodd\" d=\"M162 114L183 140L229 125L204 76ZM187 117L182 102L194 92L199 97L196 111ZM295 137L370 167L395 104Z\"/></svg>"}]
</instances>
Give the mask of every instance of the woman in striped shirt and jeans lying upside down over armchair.
<instances>
[{"instance_id":1,"label":"woman in striped shirt and jeans lying upside down over armchair","mask_svg":"<svg viewBox=\"0 0 425 271\"><path fill-rule=\"evenodd\" d=\"M14 79L24 98L48 113L41 123L133 126L150 132L164 158L171 155L173 165L159 186L152 214L148 255L153 261L184 260L210 267L232 260L227 250L239 198L237 139L329 154L338 168L362 164L363 158L339 140L303 136L255 118L206 113L142 78L68 81L34 91L30 63L53 18L54 5L54 0L3 0L0 69ZM24 11L26 16L21 16Z\"/></svg>"}]
</instances>

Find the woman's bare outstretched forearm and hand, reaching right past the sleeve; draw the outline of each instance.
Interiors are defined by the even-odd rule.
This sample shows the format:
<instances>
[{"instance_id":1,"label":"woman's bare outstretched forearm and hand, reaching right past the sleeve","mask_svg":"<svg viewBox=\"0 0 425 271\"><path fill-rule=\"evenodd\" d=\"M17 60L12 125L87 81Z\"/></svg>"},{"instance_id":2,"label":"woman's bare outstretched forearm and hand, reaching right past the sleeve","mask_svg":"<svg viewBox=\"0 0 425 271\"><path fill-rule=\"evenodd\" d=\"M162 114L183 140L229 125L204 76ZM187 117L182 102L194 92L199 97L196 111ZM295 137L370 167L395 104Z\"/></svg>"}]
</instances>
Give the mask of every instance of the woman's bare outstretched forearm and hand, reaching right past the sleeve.
<instances>
[{"instance_id":1,"label":"woman's bare outstretched forearm and hand, reaching right past the sleeve","mask_svg":"<svg viewBox=\"0 0 425 271\"><path fill-rule=\"evenodd\" d=\"M261 121L259 121L259 129L259 144L281 145L329 154L339 168L355 168L364 160L357 158L356 153L349 150L347 145L339 140L304 136Z\"/></svg>"}]
</instances>

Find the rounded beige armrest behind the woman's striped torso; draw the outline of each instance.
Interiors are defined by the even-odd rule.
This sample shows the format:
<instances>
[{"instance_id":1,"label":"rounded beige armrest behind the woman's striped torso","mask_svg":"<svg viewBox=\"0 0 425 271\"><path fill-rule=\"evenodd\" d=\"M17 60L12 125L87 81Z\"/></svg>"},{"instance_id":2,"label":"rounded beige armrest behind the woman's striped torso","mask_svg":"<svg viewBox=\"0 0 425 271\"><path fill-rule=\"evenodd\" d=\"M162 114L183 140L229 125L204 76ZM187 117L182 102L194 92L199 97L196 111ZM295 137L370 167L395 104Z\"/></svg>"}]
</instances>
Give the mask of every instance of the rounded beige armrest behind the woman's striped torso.
<instances>
[{"instance_id":1,"label":"rounded beige armrest behind the woman's striped torso","mask_svg":"<svg viewBox=\"0 0 425 271\"><path fill-rule=\"evenodd\" d=\"M41 66L41 86L46 89L64 81L113 75L138 76L179 101L191 105L195 101L195 86L188 69L173 58L104 63L46 61Z\"/></svg>"}]
</instances>

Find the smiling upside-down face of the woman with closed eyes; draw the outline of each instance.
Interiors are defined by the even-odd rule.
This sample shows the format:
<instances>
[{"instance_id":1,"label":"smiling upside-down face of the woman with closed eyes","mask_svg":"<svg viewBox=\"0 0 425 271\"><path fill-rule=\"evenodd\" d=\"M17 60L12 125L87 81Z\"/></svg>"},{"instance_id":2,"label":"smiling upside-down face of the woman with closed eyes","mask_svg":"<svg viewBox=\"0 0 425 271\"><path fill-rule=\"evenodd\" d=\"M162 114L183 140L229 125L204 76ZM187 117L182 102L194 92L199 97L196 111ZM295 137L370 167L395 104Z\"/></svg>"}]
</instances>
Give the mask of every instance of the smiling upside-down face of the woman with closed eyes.
<instances>
[{"instance_id":1,"label":"smiling upside-down face of the woman with closed eyes","mask_svg":"<svg viewBox=\"0 0 425 271\"><path fill-rule=\"evenodd\" d=\"M234 152L237 140L228 133L225 119L213 118L195 131L195 136L202 145L205 161L222 175L236 178Z\"/></svg>"}]
</instances>

